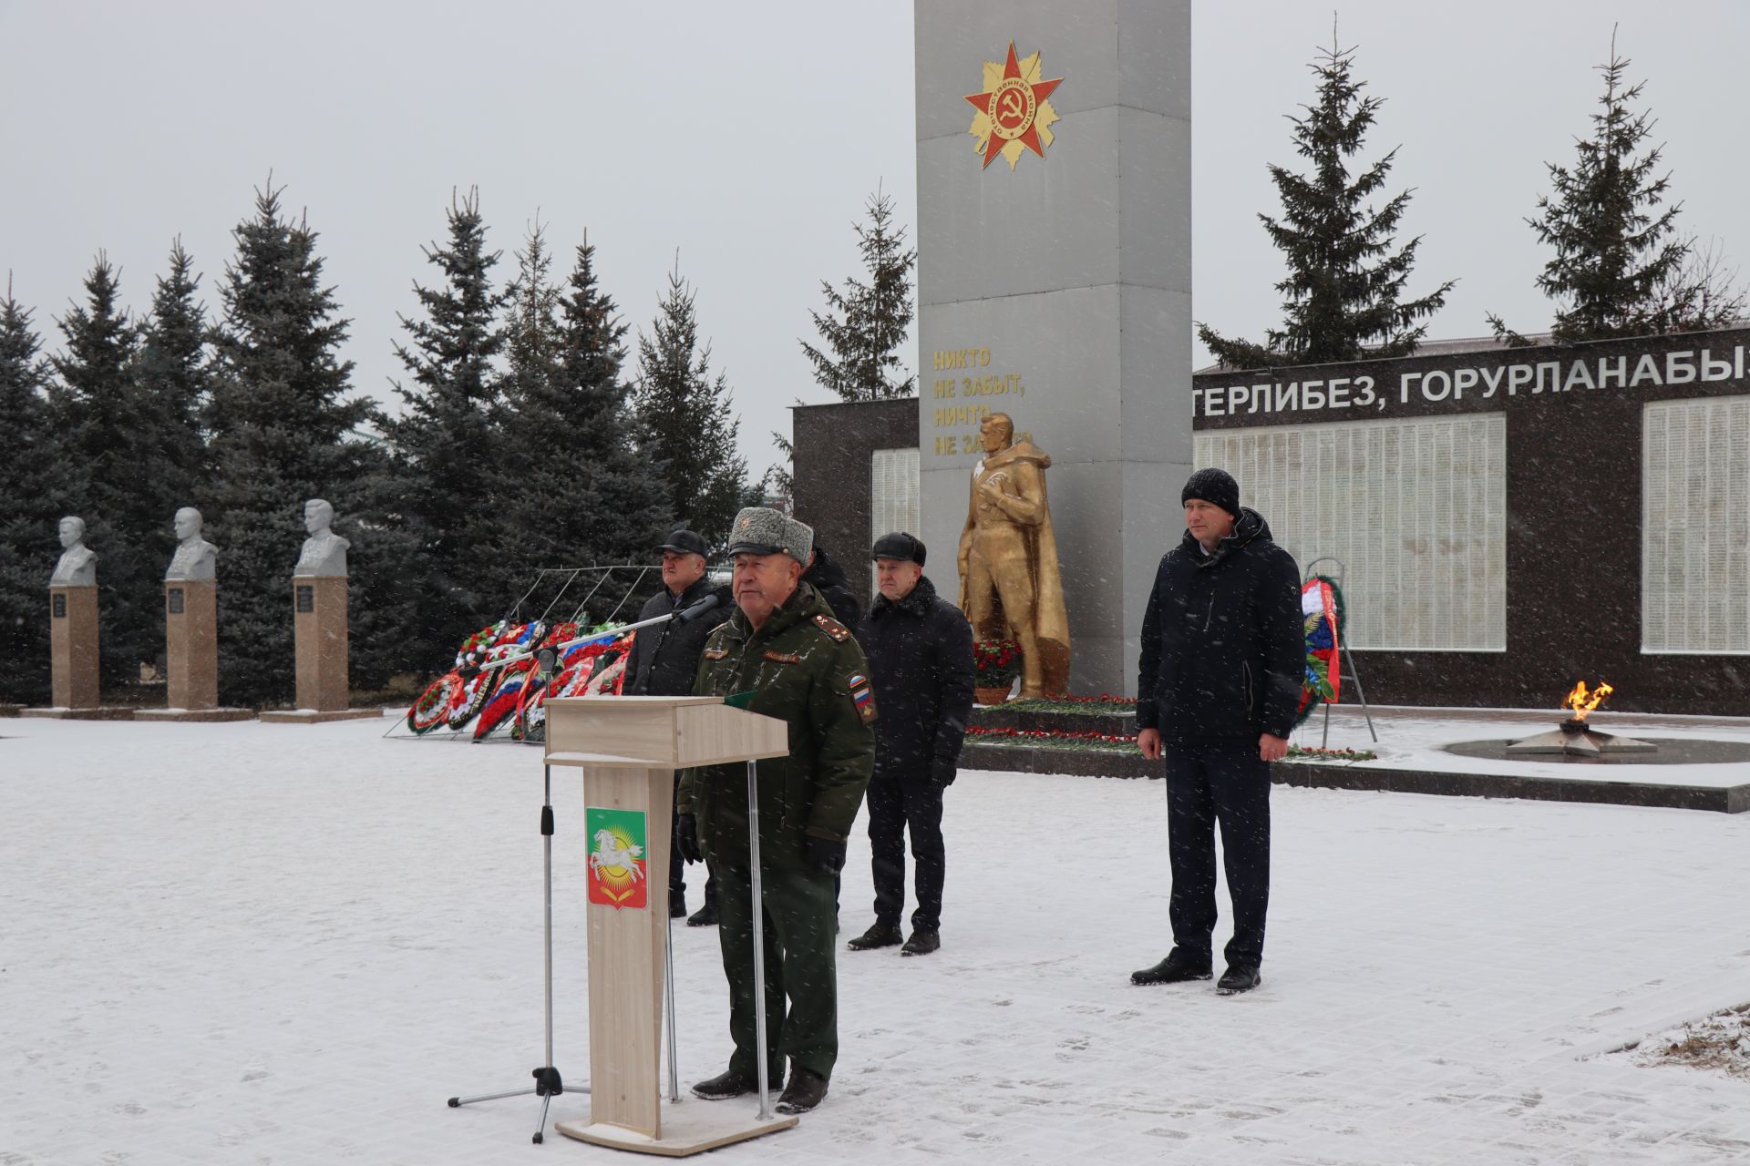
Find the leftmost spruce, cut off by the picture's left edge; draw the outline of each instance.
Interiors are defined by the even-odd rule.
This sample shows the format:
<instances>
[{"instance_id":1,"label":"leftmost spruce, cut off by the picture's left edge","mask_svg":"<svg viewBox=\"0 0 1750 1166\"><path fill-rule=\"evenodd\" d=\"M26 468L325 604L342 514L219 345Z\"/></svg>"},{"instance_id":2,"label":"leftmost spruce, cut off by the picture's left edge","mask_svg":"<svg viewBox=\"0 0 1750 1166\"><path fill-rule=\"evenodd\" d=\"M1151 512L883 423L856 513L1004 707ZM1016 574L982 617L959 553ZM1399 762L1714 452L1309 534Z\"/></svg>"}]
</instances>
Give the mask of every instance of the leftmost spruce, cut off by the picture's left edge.
<instances>
[{"instance_id":1,"label":"leftmost spruce, cut off by the picture's left edge","mask_svg":"<svg viewBox=\"0 0 1750 1166\"><path fill-rule=\"evenodd\" d=\"M49 573L61 549L56 521L65 512L66 456L49 420L49 367L30 309L0 299L0 416L7 456L0 458L0 701L49 703Z\"/></svg>"}]
</instances>

